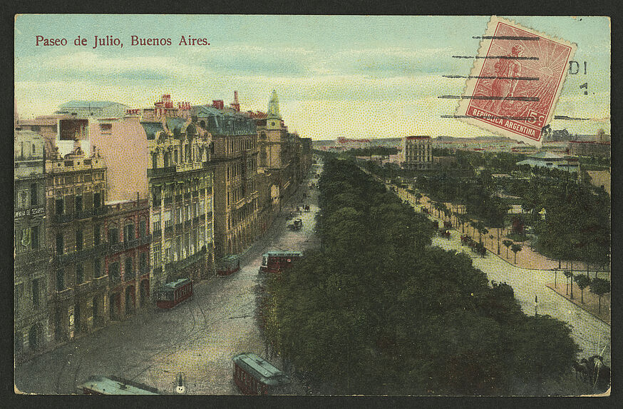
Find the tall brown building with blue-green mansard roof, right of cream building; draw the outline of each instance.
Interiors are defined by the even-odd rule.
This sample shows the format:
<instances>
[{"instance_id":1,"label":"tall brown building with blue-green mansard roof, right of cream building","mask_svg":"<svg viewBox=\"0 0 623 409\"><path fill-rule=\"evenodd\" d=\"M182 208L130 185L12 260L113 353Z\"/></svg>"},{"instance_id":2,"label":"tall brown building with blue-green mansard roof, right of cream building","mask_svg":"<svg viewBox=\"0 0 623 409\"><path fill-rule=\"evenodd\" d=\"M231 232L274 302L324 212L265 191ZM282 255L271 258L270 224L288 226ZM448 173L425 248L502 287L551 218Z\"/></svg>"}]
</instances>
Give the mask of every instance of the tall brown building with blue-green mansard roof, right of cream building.
<instances>
[{"instance_id":1,"label":"tall brown building with blue-green mansard roof, right of cream building","mask_svg":"<svg viewBox=\"0 0 623 409\"><path fill-rule=\"evenodd\" d=\"M254 121L222 101L192 107L212 136L215 253L241 253L257 236L257 133Z\"/></svg>"}]
</instances>

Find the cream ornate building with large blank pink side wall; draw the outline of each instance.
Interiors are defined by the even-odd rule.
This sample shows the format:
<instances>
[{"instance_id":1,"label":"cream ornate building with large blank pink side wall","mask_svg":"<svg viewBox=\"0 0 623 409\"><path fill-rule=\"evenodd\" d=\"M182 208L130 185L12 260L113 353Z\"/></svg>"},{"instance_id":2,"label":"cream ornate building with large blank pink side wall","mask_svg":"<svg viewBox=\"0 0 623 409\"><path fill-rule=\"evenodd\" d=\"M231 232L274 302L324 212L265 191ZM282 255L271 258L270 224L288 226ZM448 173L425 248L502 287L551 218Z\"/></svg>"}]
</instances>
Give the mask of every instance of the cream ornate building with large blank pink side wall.
<instances>
[{"instance_id":1,"label":"cream ornate building with large blank pink side wall","mask_svg":"<svg viewBox=\"0 0 623 409\"><path fill-rule=\"evenodd\" d=\"M128 110L123 118L99 119L91 141L110 158L110 201L148 198L150 206L150 279L145 283L141 277L138 287L129 289L129 296L128 288L123 289L123 296L122 288L116 291L119 301L115 308L123 313L125 307L121 306L128 306L125 301L136 300L136 294L140 300L145 288L153 295L177 278L199 280L212 273L212 141L209 133L191 121L190 105L175 107L170 95L163 95L153 108ZM113 268L116 274L115 264ZM120 271L123 268L120 265Z\"/></svg>"}]
</instances>

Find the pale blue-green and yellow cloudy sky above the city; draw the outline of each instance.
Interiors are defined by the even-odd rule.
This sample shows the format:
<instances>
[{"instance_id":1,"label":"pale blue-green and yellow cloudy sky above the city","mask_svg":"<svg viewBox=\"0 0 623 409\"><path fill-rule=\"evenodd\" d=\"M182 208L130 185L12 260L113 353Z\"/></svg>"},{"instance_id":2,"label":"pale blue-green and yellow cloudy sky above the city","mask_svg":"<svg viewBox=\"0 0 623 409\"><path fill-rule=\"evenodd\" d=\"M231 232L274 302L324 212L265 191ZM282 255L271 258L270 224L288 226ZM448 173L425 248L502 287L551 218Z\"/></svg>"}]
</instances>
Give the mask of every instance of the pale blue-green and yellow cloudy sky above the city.
<instances>
[{"instance_id":1,"label":"pale blue-green and yellow cloudy sky above the city","mask_svg":"<svg viewBox=\"0 0 623 409\"><path fill-rule=\"evenodd\" d=\"M607 17L503 16L577 44L554 129L610 132L610 21ZM277 90L290 131L313 139L480 136L453 115L490 16L256 16L28 14L15 19L15 101L21 118L71 100L153 106L162 94L193 105L212 99L266 111ZM66 39L66 46L36 45ZM81 36L86 46L74 45ZM94 36L119 39L98 46ZM131 46L132 36L171 45ZM210 45L179 45L182 36ZM587 61L587 74L583 64ZM587 89L580 85L587 84ZM585 95L587 91L587 95Z\"/></svg>"}]
</instances>

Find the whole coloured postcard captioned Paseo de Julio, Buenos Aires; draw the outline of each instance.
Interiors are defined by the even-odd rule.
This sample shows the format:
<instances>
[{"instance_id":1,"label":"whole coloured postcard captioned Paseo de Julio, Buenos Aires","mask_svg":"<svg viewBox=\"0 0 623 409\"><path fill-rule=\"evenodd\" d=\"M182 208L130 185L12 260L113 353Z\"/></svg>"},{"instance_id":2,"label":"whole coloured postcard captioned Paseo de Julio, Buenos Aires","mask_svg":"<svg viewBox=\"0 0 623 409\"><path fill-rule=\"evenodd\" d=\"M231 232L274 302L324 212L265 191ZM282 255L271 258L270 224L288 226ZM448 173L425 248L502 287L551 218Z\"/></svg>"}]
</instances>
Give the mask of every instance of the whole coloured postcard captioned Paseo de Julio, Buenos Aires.
<instances>
[{"instance_id":1,"label":"whole coloured postcard captioned Paseo de Julio, Buenos Aires","mask_svg":"<svg viewBox=\"0 0 623 409\"><path fill-rule=\"evenodd\" d=\"M609 395L610 36L16 15L14 392Z\"/></svg>"}]
</instances>

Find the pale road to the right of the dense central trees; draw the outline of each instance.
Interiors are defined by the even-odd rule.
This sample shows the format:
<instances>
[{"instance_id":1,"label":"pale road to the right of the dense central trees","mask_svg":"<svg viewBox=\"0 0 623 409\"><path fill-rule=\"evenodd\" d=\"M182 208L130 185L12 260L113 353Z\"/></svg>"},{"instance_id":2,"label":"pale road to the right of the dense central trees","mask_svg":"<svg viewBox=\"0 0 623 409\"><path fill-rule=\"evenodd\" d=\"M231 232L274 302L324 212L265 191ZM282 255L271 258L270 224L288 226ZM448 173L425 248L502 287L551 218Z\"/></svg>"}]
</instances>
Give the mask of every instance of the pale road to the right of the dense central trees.
<instances>
[{"instance_id":1,"label":"pale road to the right of the dense central trees","mask_svg":"<svg viewBox=\"0 0 623 409\"><path fill-rule=\"evenodd\" d=\"M411 204L413 206L413 203ZM442 223L440 218L428 217ZM610 325L545 287L546 283L554 282L553 271L519 268L489 252L485 258L476 256L467 246L461 246L460 232L455 230L450 231L450 240L439 236L433 237L433 246L464 252L473 258L474 266L486 273L490 280L508 283L513 287L515 298L520 302L522 310L528 315L535 315L535 296L537 296L539 314L551 315L571 325L572 337L583 350L580 353L581 357L602 355L604 363L610 365ZM559 285L565 283L562 274L558 274L558 283Z\"/></svg>"}]
</instances>

